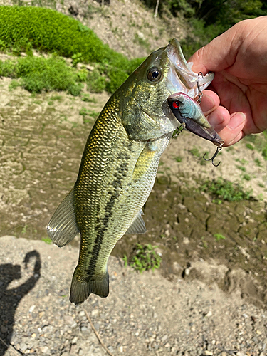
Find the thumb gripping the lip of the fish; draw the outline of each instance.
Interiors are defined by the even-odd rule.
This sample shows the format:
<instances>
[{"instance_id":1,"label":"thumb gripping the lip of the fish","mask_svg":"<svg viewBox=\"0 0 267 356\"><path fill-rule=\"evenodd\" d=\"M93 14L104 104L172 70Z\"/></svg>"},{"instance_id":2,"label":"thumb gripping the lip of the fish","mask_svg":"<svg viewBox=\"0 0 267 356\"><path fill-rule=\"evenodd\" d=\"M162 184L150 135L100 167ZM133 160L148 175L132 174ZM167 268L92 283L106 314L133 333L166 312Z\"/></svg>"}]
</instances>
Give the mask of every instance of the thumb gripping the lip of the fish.
<instances>
[{"instance_id":1,"label":"thumb gripping the lip of the fish","mask_svg":"<svg viewBox=\"0 0 267 356\"><path fill-rule=\"evenodd\" d=\"M189 58L193 62L192 70L195 73L216 72L231 67L236 61L236 53L241 43L239 23L228 31L214 38L206 46L200 48Z\"/></svg>"}]
</instances>

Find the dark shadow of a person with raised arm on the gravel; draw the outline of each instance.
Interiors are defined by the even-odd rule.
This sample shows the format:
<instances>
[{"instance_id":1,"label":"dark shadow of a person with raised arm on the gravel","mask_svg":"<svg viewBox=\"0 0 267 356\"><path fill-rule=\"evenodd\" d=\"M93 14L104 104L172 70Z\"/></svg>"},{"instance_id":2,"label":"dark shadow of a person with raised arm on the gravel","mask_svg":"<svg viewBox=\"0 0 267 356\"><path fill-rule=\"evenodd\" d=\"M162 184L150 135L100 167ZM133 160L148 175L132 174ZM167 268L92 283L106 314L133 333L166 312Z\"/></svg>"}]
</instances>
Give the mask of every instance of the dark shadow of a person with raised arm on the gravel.
<instances>
[{"instance_id":1,"label":"dark shadow of a person with raised arm on the gravel","mask_svg":"<svg viewBox=\"0 0 267 356\"><path fill-rule=\"evenodd\" d=\"M36 284L40 278L41 258L38 251L26 253L23 260L25 268L31 258L36 258L33 273L26 282L20 286L8 289L9 284L21 278L21 266L5 263L0 265L0 356L8 349L13 334L14 315L19 302Z\"/></svg>"}]
</instances>

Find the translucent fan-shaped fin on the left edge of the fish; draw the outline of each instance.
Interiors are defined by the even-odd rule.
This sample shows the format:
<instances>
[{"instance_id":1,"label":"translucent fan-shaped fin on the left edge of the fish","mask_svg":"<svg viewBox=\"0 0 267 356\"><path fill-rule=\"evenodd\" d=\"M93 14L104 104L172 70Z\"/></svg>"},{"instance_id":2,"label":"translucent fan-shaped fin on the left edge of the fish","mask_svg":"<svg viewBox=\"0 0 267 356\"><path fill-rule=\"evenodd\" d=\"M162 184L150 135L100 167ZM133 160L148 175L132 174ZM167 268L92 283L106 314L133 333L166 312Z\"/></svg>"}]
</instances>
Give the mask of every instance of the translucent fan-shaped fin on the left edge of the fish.
<instances>
[{"instance_id":1,"label":"translucent fan-shaped fin on the left edge of the fish","mask_svg":"<svg viewBox=\"0 0 267 356\"><path fill-rule=\"evenodd\" d=\"M74 211L74 189L71 189L48 222L47 233L54 244L62 247L73 240L79 232Z\"/></svg>"}]
</instances>

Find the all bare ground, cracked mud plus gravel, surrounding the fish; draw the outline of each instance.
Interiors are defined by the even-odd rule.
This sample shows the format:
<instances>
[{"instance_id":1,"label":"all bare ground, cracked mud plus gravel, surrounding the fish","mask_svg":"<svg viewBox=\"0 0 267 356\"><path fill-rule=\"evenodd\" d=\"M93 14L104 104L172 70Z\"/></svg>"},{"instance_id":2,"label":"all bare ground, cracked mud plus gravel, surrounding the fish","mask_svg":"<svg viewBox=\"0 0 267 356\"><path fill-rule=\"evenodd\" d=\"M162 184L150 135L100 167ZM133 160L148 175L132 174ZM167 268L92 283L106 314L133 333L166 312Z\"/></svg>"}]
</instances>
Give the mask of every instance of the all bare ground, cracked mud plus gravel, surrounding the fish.
<instances>
[{"instance_id":1,"label":"all bare ground, cracked mud plus gravel, surrounding the fish","mask_svg":"<svg viewBox=\"0 0 267 356\"><path fill-rule=\"evenodd\" d=\"M0 340L0 355L105 355L83 308L113 355L266 355L261 155L240 142L223 150L215 169L190 153L213 150L209 142L189 132L172 140L145 205L147 234L124 236L115 247L109 297L75 307L68 290L78 241L59 249L36 240L46 237L47 221L75 182L94 120L80 109L100 112L108 95L92 95L96 103L65 93L32 97L10 92L9 83L0 82L0 231L16 238L0 239L0 337L8 346ZM263 200L214 204L196 187L207 177L240 179L236 159L248 162L246 187ZM122 266L136 242L158 246L157 273Z\"/></svg>"}]
</instances>

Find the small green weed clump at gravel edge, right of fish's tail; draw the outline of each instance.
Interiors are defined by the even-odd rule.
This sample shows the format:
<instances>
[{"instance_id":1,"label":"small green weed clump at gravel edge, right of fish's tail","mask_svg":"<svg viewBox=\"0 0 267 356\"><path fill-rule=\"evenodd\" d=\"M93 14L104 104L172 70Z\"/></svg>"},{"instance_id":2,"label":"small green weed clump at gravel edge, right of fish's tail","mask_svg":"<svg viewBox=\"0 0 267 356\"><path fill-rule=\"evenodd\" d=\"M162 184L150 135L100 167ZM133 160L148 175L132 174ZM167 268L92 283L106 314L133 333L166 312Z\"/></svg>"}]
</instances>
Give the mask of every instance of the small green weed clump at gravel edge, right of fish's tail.
<instances>
[{"instance_id":1,"label":"small green weed clump at gravel edge, right of fish's tail","mask_svg":"<svg viewBox=\"0 0 267 356\"><path fill-rule=\"evenodd\" d=\"M124 256L123 260L125 261L125 266L129 263L132 268L135 268L136 271L142 273L143 271L148 271L160 267L162 258L157 254L155 249L157 246L152 246L150 244L140 245L136 244L134 249L134 256L127 261L127 256Z\"/></svg>"}]
</instances>

